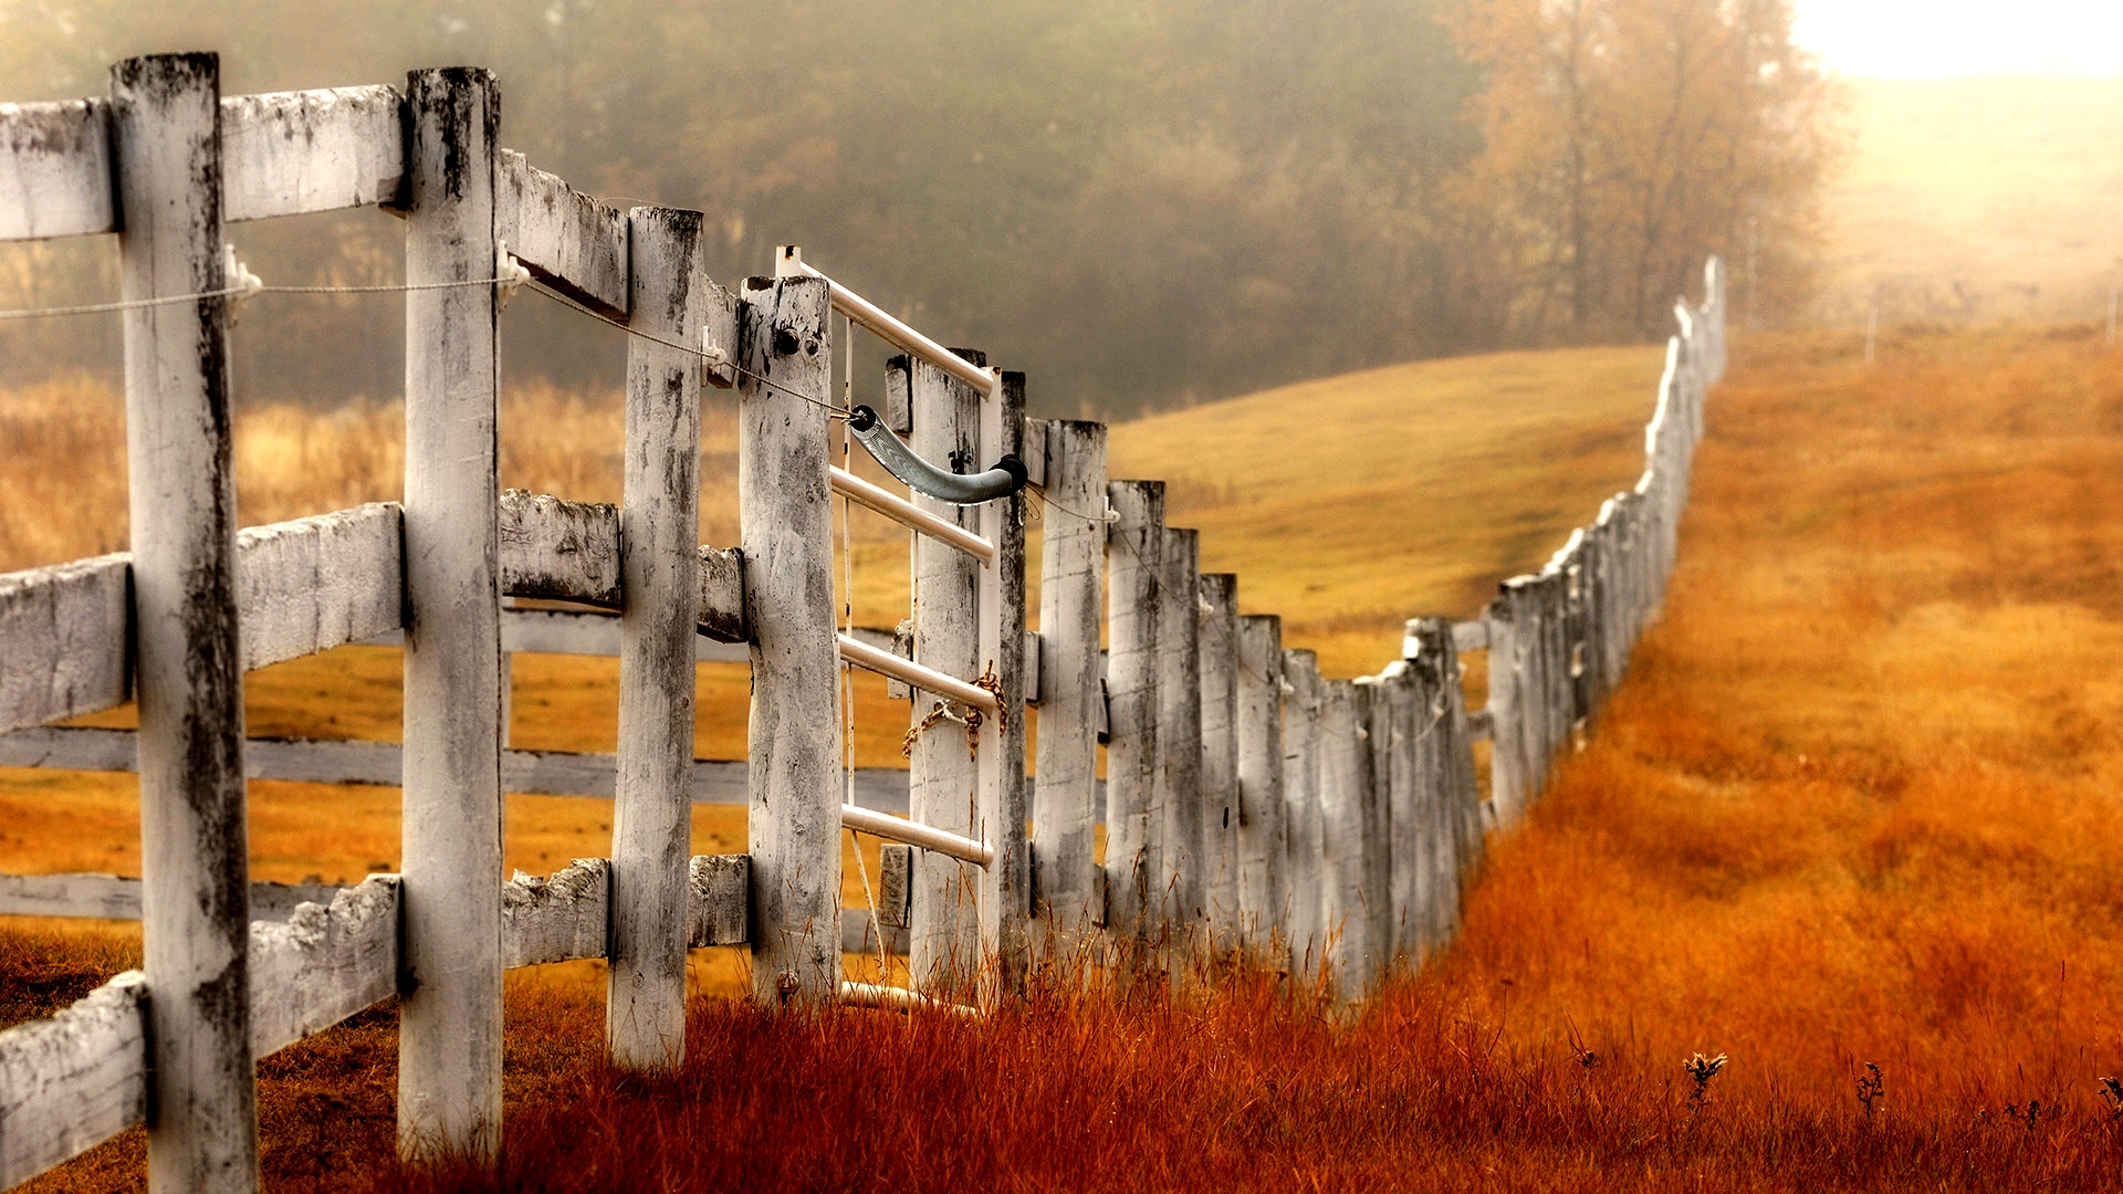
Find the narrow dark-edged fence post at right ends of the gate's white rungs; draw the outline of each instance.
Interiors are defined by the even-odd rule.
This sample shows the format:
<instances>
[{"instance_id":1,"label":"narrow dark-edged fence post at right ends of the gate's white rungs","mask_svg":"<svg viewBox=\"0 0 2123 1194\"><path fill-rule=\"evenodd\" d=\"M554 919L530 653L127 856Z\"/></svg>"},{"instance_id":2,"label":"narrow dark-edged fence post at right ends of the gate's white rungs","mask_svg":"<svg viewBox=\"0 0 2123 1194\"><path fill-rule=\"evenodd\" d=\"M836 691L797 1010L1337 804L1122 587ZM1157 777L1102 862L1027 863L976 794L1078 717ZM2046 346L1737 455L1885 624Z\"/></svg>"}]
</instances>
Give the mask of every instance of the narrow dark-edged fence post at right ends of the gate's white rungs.
<instances>
[{"instance_id":1,"label":"narrow dark-edged fence post at right ends of the gate's white rungs","mask_svg":"<svg viewBox=\"0 0 2123 1194\"><path fill-rule=\"evenodd\" d=\"M998 374L1002 385L981 404L981 446L996 459L1025 455L1025 374ZM1032 858L1025 848L1025 493L979 508L981 535L996 559L981 569L979 656L994 669L1002 714L981 722L979 807L974 837L994 848L979 871L981 975L989 994L1023 994L1032 965L1025 916L1032 914ZM991 967L991 969L989 969ZM994 999L989 999L994 1003Z\"/></svg>"}]
</instances>

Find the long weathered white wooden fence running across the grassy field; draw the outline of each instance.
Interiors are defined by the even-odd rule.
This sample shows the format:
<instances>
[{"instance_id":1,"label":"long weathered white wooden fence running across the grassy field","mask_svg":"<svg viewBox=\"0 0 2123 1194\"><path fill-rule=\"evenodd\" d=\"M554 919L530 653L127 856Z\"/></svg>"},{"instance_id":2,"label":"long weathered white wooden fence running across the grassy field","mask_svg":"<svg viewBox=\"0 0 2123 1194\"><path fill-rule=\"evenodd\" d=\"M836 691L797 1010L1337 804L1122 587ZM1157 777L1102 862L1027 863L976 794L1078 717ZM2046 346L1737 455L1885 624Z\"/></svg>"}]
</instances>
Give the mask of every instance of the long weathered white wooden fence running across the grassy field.
<instances>
[{"instance_id":1,"label":"long weathered white wooden fence running across the grassy field","mask_svg":"<svg viewBox=\"0 0 2123 1194\"><path fill-rule=\"evenodd\" d=\"M1159 482L1108 482L1102 425L1025 419L1021 374L938 348L794 251L724 291L698 212L620 212L497 127L482 70L221 98L212 55L123 62L100 100L0 106L0 238L119 236L134 535L130 555L0 576L0 763L138 769L142 822L140 880L0 877L0 911L140 916L146 941L144 973L0 1033L0 1186L144 1120L155 1190L255 1188L255 1058L391 994L403 1152L493 1156L507 967L609 958L607 1043L633 1069L681 1062L696 945L749 945L769 1005L921 1005L841 982L843 829L919 846L887 850L877 920L949 1001L1021 990L1042 935L1242 948L1359 994L1450 941L1484 833L1524 816L1658 610L1724 372L1715 261L1705 306L1677 310L1637 487L1480 620L1412 620L1405 659L1325 680L1274 616L1238 614L1236 578L1197 574ZM240 531L223 227L365 204L405 219L405 501ZM618 508L497 489L495 348L520 268L633 331ZM834 312L907 353L883 416L919 453L1021 459L1045 501L1036 635L1025 493L960 508L832 467ZM698 544L703 385L737 391L737 548ZM921 529L911 644L834 625L834 493ZM244 737L246 669L352 642L403 644L403 746ZM507 750L512 650L618 654L618 754ZM1465 707L1463 652L1486 652L1486 710ZM694 758L696 659L749 663L749 763ZM926 729L904 775L849 784L845 665L911 684ZM123 701L138 733L53 727ZM401 784L403 871L251 884L253 775ZM611 795L611 858L499 882L505 790ZM749 850L688 856L690 803L739 790Z\"/></svg>"}]
</instances>

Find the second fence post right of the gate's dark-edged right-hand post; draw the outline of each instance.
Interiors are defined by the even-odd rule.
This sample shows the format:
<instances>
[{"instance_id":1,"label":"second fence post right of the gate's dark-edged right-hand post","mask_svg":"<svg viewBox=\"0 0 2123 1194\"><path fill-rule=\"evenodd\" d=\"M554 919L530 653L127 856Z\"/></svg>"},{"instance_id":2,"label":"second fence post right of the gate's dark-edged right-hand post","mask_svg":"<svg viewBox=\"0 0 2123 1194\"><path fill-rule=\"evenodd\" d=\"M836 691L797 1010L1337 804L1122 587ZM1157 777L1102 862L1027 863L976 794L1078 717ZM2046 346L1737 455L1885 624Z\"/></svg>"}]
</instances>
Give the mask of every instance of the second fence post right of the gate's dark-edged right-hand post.
<instances>
[{"instance_id":1,"label":"second fence post right of the gate's dark-edged right-hand post","mask_svg":"<svg viewBox=\"0 0 2123 1194\"><path fill-rule=\"evenodd\" d=\"M1140 943L1163 890L1155 799L1166 487L1115 480L1106 499L1119 514L1106 538L1106 928Z\"/></svg>"}]
</instances>

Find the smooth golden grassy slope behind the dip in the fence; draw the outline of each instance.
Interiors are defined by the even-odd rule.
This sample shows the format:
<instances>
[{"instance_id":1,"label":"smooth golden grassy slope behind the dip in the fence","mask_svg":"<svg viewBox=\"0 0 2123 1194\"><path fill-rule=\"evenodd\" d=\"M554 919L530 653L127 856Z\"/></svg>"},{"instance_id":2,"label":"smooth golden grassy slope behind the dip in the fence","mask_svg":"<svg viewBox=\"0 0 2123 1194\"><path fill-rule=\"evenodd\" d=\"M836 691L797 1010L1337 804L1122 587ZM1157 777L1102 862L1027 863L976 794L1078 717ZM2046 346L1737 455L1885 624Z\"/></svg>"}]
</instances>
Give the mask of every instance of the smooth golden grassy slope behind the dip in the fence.
<instances>
[{"instance_id":1,"label":"smooth golden grassy slope behind the dip in the fence","mask_svg":"<svg viewBox=\"0 0 2123 1194\"><path fill-rule=\"evenodd\" d=\"M1329 676L1399 656L1401 622L1469 616L1643 470L1662 357L1501 353L1393 365L1115 427L1112 476L1166 478L1248 614Z\"/></svg>"}]
</instances>

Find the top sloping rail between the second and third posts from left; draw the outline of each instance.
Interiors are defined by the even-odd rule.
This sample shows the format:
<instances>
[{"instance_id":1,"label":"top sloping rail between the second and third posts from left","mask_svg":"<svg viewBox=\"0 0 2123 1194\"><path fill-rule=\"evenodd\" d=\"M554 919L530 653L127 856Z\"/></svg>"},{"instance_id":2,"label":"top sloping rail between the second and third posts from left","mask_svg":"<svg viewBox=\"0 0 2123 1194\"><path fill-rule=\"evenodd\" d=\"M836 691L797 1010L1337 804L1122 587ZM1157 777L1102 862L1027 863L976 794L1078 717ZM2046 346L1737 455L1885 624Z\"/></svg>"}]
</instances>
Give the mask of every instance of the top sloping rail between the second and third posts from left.
<instances>
[{"instance_id":1,"label":"top sloping rail between the second and third posts from left","mask_svg":"<svg viewBox=\"0 0 2123 1194\"><path fill-rule=\"evenodd\" d=\"M558 176L501 151L495 236L533 276L603 314L626 319L626 212L592 200ZM728 344L737 355L735 338Z\"/></svg>"}]
</instances>

